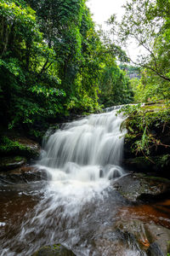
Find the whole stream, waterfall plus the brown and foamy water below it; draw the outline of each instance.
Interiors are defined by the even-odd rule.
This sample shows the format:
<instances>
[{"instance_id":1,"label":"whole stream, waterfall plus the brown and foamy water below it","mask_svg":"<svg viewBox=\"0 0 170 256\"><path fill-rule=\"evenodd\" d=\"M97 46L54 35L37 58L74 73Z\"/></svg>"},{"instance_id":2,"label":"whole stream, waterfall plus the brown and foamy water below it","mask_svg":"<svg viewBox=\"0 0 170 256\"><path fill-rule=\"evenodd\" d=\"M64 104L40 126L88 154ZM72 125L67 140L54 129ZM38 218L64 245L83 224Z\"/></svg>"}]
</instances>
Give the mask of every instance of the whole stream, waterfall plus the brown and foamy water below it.
<instances>
[{"instance_id":1,"label":"whole stream, waterfall plus the brown and foamy water below it","mask_svg":"<svg viewBox=\"0 0 170 256\"><path fill-rule=\"evenodd\" d=\"M123 238L111 232L117 212L131 207L111 187L111 180L126 175L122 121L112 110L63 125L48 137L37 162L48 172L47 182L0 187L2 256L31 256L56 242L78 256L145 255L138 247L122 249ZM114 239L120 240L118 253L118 244L107 242Z\"/></svg>"}]
</instances>

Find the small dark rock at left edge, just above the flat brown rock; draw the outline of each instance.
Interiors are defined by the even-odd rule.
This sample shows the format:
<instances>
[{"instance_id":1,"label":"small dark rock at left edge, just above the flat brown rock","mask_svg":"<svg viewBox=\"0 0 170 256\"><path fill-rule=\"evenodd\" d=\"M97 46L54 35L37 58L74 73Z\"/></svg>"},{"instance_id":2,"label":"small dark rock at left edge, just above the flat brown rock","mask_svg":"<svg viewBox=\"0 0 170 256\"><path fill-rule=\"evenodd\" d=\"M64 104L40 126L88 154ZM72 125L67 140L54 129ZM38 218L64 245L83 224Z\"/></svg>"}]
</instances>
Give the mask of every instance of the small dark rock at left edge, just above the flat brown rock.
<instances>
[{"instance_id":1,"label":"small dark rock at left edge, just above the flat brown rock","mask_svg":"<svg viewBox=\"0 0 170 256\"><path fill-rule=\"evenodd\" d=\"M26 164L26 157L14 156L14 157L3 157L0 159L0 172L5 172L18 168Z\"/></svg>"}]
</instances>

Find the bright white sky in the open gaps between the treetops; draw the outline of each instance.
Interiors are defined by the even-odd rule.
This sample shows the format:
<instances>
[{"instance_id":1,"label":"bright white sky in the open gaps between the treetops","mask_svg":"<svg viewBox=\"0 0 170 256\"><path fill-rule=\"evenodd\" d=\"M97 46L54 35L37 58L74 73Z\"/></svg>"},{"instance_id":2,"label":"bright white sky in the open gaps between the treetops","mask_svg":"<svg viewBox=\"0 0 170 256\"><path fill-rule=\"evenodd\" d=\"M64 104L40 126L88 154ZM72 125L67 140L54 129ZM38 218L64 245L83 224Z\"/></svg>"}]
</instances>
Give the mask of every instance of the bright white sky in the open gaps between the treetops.
<instances>
[{"instance_id":1,"label":"bright white sky in the open gaps between the treetops","mask_svg":"<svg viewBox=\"0 0 170 256\"><path fill-rule=\"evenodd\" d=\"M121 21L124 14L122 5L126 2L127 0L88 0L87 5L93 14L95 23L101 25L104 30L109 30L109 26L105 24L105 21L113 14L116 14L117 20ZM128 45L127 50L133 60L139 55L139 49L137 49L137 45L134 42Z\"/></svg>"}]
</instances>

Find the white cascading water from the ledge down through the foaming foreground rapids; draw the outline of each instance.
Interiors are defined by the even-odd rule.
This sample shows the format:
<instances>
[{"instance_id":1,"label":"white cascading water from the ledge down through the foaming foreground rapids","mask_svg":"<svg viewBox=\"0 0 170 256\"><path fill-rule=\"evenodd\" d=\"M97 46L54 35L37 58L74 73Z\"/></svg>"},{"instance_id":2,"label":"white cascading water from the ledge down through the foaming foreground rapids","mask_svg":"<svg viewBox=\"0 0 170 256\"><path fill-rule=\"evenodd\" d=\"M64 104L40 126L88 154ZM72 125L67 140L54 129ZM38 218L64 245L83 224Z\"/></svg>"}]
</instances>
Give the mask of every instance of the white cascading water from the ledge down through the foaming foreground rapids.
<instances>
[{"instance_id":1,"label":"white cascading water from the ledge down through the foaming foreground rapids","mask_svg":"<svg viewBox=\"0 0 170 256\"><path fill-rule=\"evenodd\" d=\"M123 174L122 120L116 110L93 114L48 138L37 167L45 169L51 181L42 187L40 201L26 213L20 229L14 227L14 237L3 239L2 256L31 256L56 242L79 256L110 255L107 249L97 253L94 236L112 223L116 207L125 203L109 186L110 179Z\"/></svg>"}]
</instances>

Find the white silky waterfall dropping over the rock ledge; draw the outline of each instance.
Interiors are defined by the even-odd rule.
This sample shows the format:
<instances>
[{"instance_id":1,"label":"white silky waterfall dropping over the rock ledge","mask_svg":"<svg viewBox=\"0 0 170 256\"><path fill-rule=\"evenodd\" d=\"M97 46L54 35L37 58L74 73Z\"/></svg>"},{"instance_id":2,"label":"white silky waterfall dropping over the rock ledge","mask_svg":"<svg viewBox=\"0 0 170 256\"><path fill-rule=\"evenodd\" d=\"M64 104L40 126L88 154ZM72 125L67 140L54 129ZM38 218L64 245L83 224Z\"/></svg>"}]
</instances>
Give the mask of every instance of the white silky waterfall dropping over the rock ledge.
<instances>
[{"instance_id":1,"label":"white silky waterfall dropping over the rock ledge","mask_svg":"<svg viewBox=\"0 0 170 256\"><path fill-rule=\"evenodd\" d=\"M122 120L115 109L106 109L65 124L48 138L39 168L54 180L89 182L122 176Z\"/></svg>"}]
</instances>

